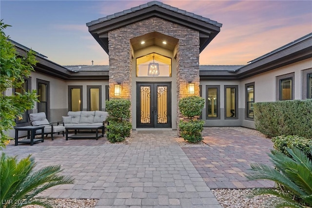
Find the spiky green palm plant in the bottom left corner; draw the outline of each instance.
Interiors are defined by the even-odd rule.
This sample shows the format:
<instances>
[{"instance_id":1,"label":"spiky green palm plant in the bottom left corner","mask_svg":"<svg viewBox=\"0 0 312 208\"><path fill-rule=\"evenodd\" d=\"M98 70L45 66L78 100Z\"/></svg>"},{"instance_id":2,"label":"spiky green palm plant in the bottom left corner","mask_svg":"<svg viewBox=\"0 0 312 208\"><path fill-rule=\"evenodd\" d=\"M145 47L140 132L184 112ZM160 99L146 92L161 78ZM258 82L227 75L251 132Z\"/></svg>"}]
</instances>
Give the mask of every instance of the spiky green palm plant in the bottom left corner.
<instances>
[{"instance_id":1,"label":"spiky green palm plant in the bottom left corner","mask_svg":"<svg viewBox=\"0 0 312 208\"><path fill-rule=\"evenodd\" d=\"M16 156L9 157L2 152L0 163L0 208L20 208L26 205L52 208L50 202L34 197L50 187L74 183L71 176L58 175L60 165L34 171L37 164L31 155L18 162Z\"/></svg>"}]
</instances>

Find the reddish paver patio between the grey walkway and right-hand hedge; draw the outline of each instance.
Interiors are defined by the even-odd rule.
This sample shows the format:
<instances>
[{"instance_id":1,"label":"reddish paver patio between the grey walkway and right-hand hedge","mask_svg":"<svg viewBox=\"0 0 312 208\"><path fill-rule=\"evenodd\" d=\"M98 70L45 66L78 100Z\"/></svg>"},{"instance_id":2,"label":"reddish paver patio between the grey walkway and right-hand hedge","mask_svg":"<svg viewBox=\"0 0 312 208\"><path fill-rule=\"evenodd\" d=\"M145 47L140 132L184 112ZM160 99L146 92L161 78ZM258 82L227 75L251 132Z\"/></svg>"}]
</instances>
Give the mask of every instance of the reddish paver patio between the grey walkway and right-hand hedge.
<instances>
[{"instance_id":1,"label":"reddish paver patio between the grey walkway and right-hand hedge","mask_svg":"<svg viewBox=\"0 0 312 208\"><path fill-rule=\"evenodd\" d=\"M271 181L248 181L251 163L272 165L272 141L226 128L205 128L204 142L210 147L182 148L210 189L274 187Z\"/></svg>"}]
</instances>

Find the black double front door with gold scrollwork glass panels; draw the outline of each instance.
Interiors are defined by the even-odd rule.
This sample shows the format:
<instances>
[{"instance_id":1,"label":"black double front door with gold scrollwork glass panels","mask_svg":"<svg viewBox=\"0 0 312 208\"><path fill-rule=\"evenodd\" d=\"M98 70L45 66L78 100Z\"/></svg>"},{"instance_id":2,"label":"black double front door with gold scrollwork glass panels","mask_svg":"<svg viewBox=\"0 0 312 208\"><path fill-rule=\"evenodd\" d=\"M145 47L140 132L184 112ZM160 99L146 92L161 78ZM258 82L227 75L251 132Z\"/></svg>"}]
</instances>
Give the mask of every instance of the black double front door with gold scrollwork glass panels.
<instances>
[{"instance_id":1,"label":"black double front door with gold scrollwork glass panels","mask_svg":"<svg viewBox=\"0 0 312 208\"><path fill-rule=\"evenodd\" d=\"M171 83L137 83L137 128L171 128Z\"/></svg>"}]
</instances>

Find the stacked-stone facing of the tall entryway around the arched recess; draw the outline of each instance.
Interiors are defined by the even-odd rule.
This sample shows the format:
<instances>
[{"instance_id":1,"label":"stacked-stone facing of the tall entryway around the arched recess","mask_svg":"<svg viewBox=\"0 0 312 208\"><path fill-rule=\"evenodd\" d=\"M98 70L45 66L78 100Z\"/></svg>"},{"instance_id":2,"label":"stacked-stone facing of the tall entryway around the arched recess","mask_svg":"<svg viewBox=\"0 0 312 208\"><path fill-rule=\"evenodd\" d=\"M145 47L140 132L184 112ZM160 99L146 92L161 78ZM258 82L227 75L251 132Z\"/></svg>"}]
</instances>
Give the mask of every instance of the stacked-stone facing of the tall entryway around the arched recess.
<instances>
[{"instance_id":1,"label":"stacked-stone facing of the tall entryway around the arched recess","mask_svg":"<svg viewBox=\"0 0 312 208\"><path fill-rule=\"evenodd\" d=\"M158 32L179 39L177 45L177 102L188 96L187 82L195 83L195 95L199 95L199 32L182 25L159 18L150 18L127 25L108 33L109 40L109 85L114 89L117 82L122 82L123 98L131 100L132 54L130 39L147 33ZM175 89L172 89L175 90ZM110 98L114 98L110 90ZM177 107L177 122L179 109Z\"/></svg>"}]
</instances>

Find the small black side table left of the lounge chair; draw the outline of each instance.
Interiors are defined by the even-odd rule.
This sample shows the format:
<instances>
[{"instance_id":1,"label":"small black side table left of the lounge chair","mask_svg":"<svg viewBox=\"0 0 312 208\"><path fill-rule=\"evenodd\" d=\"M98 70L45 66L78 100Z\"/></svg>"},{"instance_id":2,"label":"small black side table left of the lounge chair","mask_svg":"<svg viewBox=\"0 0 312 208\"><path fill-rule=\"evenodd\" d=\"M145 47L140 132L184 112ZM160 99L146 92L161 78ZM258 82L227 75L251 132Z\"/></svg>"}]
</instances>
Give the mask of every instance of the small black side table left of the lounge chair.
<instances>
[{"instance_id":1,"label":"small black side table left of the lounge chair","mask_svg":"<svg viewBox=\"0 0 312 208\"><path fill-rule=\"evenodd\" d=\"M44 142L44 126L23 126L23 127L14 127L15 129L15 146L18 146L19 143L30 143L34 145L35 142ZM35 133L37 130L41 129L41 139L35 139ZM27 131L27 139L19 141L19 131Z\"/></svg>"}]
</instances>

